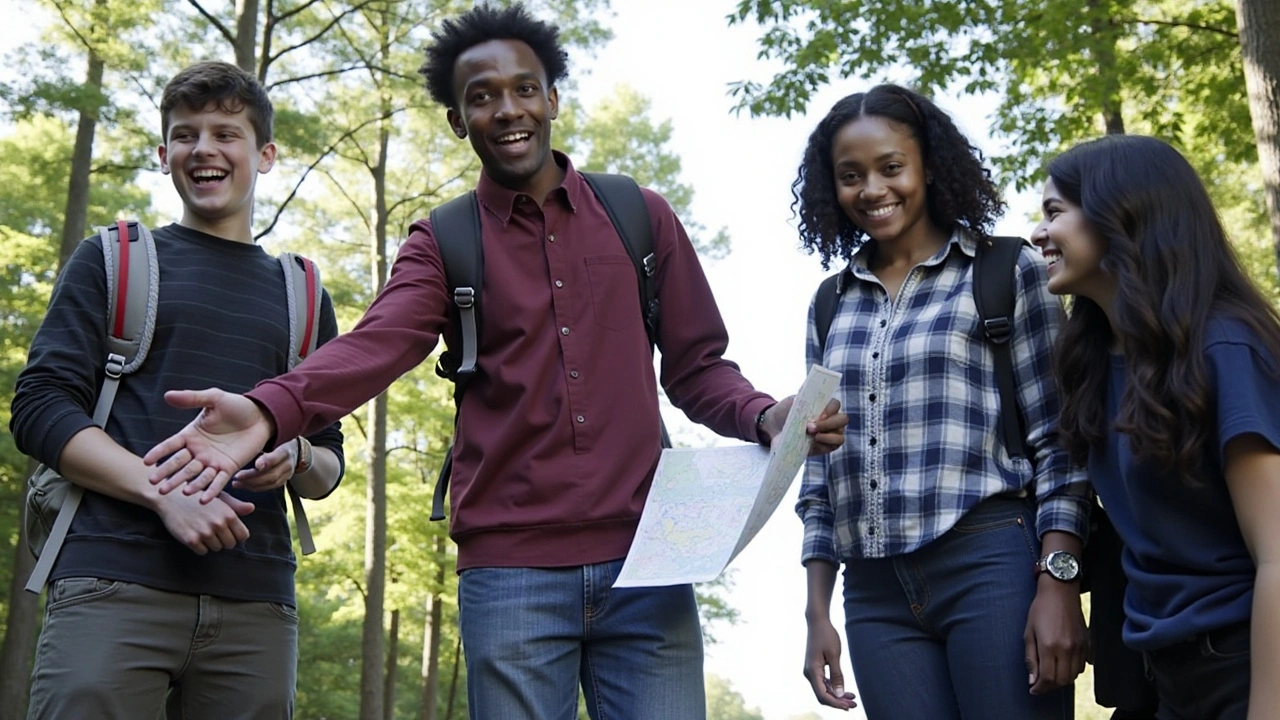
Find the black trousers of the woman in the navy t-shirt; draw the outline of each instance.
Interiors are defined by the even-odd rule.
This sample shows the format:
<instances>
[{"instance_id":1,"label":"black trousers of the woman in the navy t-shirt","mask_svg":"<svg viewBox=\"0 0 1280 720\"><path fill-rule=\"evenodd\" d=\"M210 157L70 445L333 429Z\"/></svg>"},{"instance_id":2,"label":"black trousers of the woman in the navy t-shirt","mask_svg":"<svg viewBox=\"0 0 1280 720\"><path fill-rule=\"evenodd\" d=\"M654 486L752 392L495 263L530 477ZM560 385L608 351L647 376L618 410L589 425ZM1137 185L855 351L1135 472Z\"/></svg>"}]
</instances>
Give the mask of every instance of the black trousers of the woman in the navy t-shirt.
<instances>
[{"instance_id":1,"label":"black trousers of the woman in the navy t-shirt","mask_svg":"<svg viewBox=\"0 0 1280 720\"><path fill-rule=\"evenodd\" d=\"M1249 623L1143 656L1160 693L1156 720L1244 720L1249 714Z\"/></svg>"}]
</instances>

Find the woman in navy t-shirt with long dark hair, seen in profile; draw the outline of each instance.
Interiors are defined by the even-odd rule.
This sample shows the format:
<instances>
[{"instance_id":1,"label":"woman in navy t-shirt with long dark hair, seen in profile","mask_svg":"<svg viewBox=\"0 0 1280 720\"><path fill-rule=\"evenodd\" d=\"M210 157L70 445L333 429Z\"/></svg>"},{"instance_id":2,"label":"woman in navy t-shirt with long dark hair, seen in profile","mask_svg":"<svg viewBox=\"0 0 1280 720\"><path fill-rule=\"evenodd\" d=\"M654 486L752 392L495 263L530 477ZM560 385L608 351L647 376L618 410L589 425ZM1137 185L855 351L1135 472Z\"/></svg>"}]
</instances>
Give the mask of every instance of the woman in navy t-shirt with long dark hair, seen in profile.
<instances>
[{"instance_id":1,"label":"woman in navy t-shirt with long dark hair, seen in profile","mask_svg":"<svg viewBox=\"0 0 1280 720\"><path fill-rule=\"evenodd\" d=\"M1107 136L1048 176L1059 429L1125 543L1124 641L1160 720L1276 717L1280 316L1169 145Z\"/></svg>"}]
</instances>

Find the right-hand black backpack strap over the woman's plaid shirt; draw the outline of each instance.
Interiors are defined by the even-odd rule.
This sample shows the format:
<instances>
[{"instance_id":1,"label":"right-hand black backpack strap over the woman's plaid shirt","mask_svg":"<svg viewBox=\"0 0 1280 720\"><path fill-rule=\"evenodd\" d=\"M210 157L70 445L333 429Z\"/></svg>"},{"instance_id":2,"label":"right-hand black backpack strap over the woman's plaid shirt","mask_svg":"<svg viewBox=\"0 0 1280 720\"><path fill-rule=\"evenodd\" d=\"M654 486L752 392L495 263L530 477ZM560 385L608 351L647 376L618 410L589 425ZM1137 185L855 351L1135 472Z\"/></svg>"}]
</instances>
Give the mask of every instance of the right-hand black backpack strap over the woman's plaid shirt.
<instances>
[{"instance_id":1,"label":"right-hand black backpack strap over the woman's plaid shirt","mask_svg":"<svg viewBox=\"0 0 1280 720\"><path fill-rule=\"evenodd\" d=\"M1024 241L1018 237L984 237L978 240L973 263L973 300L978 306L987 340L996 361L996 388L1000 393L1000 432L1010 457L1030 459L1027 447L1027 423L1018 407L1018 382L1014 378L1014 354L1009 342L1014 334L1014 273Z\"/></svg>"}]
</instances>

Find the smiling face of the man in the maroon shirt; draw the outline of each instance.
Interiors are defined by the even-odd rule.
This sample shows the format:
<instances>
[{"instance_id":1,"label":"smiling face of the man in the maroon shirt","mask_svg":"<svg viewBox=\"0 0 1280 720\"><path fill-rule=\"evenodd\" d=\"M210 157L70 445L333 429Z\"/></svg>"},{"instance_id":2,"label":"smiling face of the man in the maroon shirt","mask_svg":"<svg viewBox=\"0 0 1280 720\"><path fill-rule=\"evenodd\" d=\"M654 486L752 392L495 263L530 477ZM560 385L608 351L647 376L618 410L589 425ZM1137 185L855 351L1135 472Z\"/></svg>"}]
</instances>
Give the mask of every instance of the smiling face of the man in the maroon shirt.
<instances>
[{"instance_id":1,"label":"smiling face of the man in the maroon shirt","mask_svg":"<svg viewBox=\"0 0 1280 720\"><path fill-rule=\"evenodd\" d=\"M561 181L550 132L559 97L534 50L518 40L470 47L453 65L453 132L471 140L498 184L541 201Z\"/></svg>"}]
</instances>

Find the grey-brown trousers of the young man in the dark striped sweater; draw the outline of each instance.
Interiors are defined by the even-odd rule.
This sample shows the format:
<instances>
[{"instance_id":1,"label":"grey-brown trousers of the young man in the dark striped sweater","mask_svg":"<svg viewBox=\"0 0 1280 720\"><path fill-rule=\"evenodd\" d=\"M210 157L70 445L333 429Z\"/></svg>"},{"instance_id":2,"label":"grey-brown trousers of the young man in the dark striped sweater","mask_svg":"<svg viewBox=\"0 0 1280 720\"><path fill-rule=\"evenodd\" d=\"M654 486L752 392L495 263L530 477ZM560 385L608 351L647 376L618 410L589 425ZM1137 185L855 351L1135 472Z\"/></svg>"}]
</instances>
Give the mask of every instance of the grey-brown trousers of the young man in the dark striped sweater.
<instances>
[{"instance_id":1,"label":"grey-brown trousers of the young man in the dark striped sweater","mask_svg":"<svg viewBox=\"0 0 1280 720\"><path fill-rule=\"evenodd\" d=\"M284 720L298 615L274 602L65 578L49 588L28 720Z\"/></svg>"}]
</instances>

